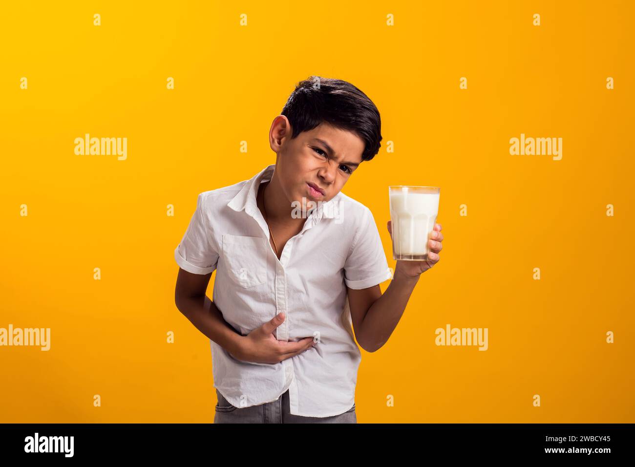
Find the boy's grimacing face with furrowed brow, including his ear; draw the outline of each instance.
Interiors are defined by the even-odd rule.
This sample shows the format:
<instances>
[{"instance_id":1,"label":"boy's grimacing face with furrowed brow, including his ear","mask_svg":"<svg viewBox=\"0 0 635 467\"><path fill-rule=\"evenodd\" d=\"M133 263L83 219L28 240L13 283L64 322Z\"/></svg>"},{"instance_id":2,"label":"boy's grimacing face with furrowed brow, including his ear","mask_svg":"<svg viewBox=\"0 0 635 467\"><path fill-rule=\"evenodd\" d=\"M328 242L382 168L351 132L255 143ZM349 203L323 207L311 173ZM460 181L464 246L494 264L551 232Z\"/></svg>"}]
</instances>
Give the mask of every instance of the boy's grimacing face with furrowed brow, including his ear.
<instances>
[{"instance_id":1,"label":"boy's grimacing face with furrowed brow, including his ear","mask_svg":"<svg viewBox=\"0 0 635 467\"><path fill-rule=\"evenodd\" d=\"M277 153L276 177L290 201L330 201L362 162L364 142L355 133L322 123L291 139L288 119L279 115L269 133ZM321 140L321 141L320 141ZM323 194L312 191L310 185Z\"/></svg>"}]
</instances>

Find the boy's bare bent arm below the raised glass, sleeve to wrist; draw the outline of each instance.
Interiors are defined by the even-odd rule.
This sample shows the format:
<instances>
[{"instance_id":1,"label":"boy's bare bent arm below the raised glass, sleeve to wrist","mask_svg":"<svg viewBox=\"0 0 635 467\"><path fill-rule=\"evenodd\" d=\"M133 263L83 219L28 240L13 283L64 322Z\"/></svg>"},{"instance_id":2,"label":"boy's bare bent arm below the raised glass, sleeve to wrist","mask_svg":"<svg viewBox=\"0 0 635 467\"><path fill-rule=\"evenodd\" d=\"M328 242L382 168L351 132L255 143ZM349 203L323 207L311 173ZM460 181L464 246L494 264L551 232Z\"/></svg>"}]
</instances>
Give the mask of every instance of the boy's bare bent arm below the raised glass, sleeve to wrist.
<instances>
[{"instance_id":1,"label":"boy's bare bent arm below the raised glass, sleeve to wrist","mask_svg":"<svg viewBox=\"0 0 635 467\"><path fill-rule=\"evenodd\" d=\"M376 351L391 337L418 280L419 276L411 278L395 271L383 295L379 285L347 288L355 338L365 351Z\"/></svg>"}]
</instances>

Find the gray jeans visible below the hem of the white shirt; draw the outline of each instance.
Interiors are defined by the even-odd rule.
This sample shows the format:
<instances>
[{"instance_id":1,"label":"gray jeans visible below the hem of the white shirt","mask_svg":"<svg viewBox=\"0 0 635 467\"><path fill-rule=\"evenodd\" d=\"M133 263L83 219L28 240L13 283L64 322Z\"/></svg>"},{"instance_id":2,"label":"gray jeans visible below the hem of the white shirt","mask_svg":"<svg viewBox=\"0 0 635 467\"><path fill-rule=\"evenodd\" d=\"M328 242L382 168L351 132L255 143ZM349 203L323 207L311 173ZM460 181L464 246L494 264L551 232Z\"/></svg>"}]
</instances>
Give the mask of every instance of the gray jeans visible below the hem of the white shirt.
<instances>
[{"instance_id":1,"label":"gray jeans visible below the hem of the white shirt","mask_svg":"<svg viewBox=\"0 0 635 467\"><path fill-rule=\"evenodd\" d=\"M214 423L357 423L355 404L344 414L332 417L302 417L289 413L289 390L273 402L235 407L216 389L218 403Z\"/></svg>"}]
</instances>

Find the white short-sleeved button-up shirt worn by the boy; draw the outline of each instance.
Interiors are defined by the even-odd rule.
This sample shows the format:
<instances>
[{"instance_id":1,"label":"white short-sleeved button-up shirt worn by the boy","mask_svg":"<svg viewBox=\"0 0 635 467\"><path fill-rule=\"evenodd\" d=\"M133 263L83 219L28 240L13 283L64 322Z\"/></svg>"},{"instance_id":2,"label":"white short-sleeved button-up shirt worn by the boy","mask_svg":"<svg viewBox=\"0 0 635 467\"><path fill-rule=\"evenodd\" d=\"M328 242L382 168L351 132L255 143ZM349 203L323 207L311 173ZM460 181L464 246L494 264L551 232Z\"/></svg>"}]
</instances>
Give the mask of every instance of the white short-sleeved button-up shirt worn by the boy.
<instances>
[{"instance_id":1,"label":"white short-sleeved button-up shirt worn by the boy","mask_svg":"<svg viewBox=\"0 0 635 467\"><path fill-rule=\"evenodd\" d=\"M372 287L392 274L372 213L341 191L313 210L307 200L302 231L277 259L256 204L274 168L200 193L174 255L190 273L217 271L212 300L242 335L283 311L278 340L317 342L272 364L237 360L210 339L214 387L236 407L275 401L289 389L292 415L335 416L354 403L361 361L345 286Z\"/></svg>"}]
</instances>

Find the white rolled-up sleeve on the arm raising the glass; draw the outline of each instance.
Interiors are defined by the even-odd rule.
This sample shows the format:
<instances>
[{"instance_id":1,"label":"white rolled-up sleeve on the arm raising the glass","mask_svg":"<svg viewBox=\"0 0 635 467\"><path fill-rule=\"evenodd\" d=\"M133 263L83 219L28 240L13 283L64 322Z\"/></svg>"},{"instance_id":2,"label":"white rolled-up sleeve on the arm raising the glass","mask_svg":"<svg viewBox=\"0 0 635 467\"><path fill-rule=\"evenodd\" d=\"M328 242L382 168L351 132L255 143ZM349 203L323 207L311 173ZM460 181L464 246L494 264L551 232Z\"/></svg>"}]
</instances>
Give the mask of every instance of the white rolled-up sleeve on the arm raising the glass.
<instances>
[{"instance_id":1,"label":"white rolled-up sleeve on the arm raising the glass","mask_svg":"<svg viewBox=\"0 0 635 467\"><path fill-rule=\"evenodd\" d=\"M366 208L344 263L344 281L349 288L368 288L392 278L384 246L373 218Z\"/></svg>"}]
</instances>

